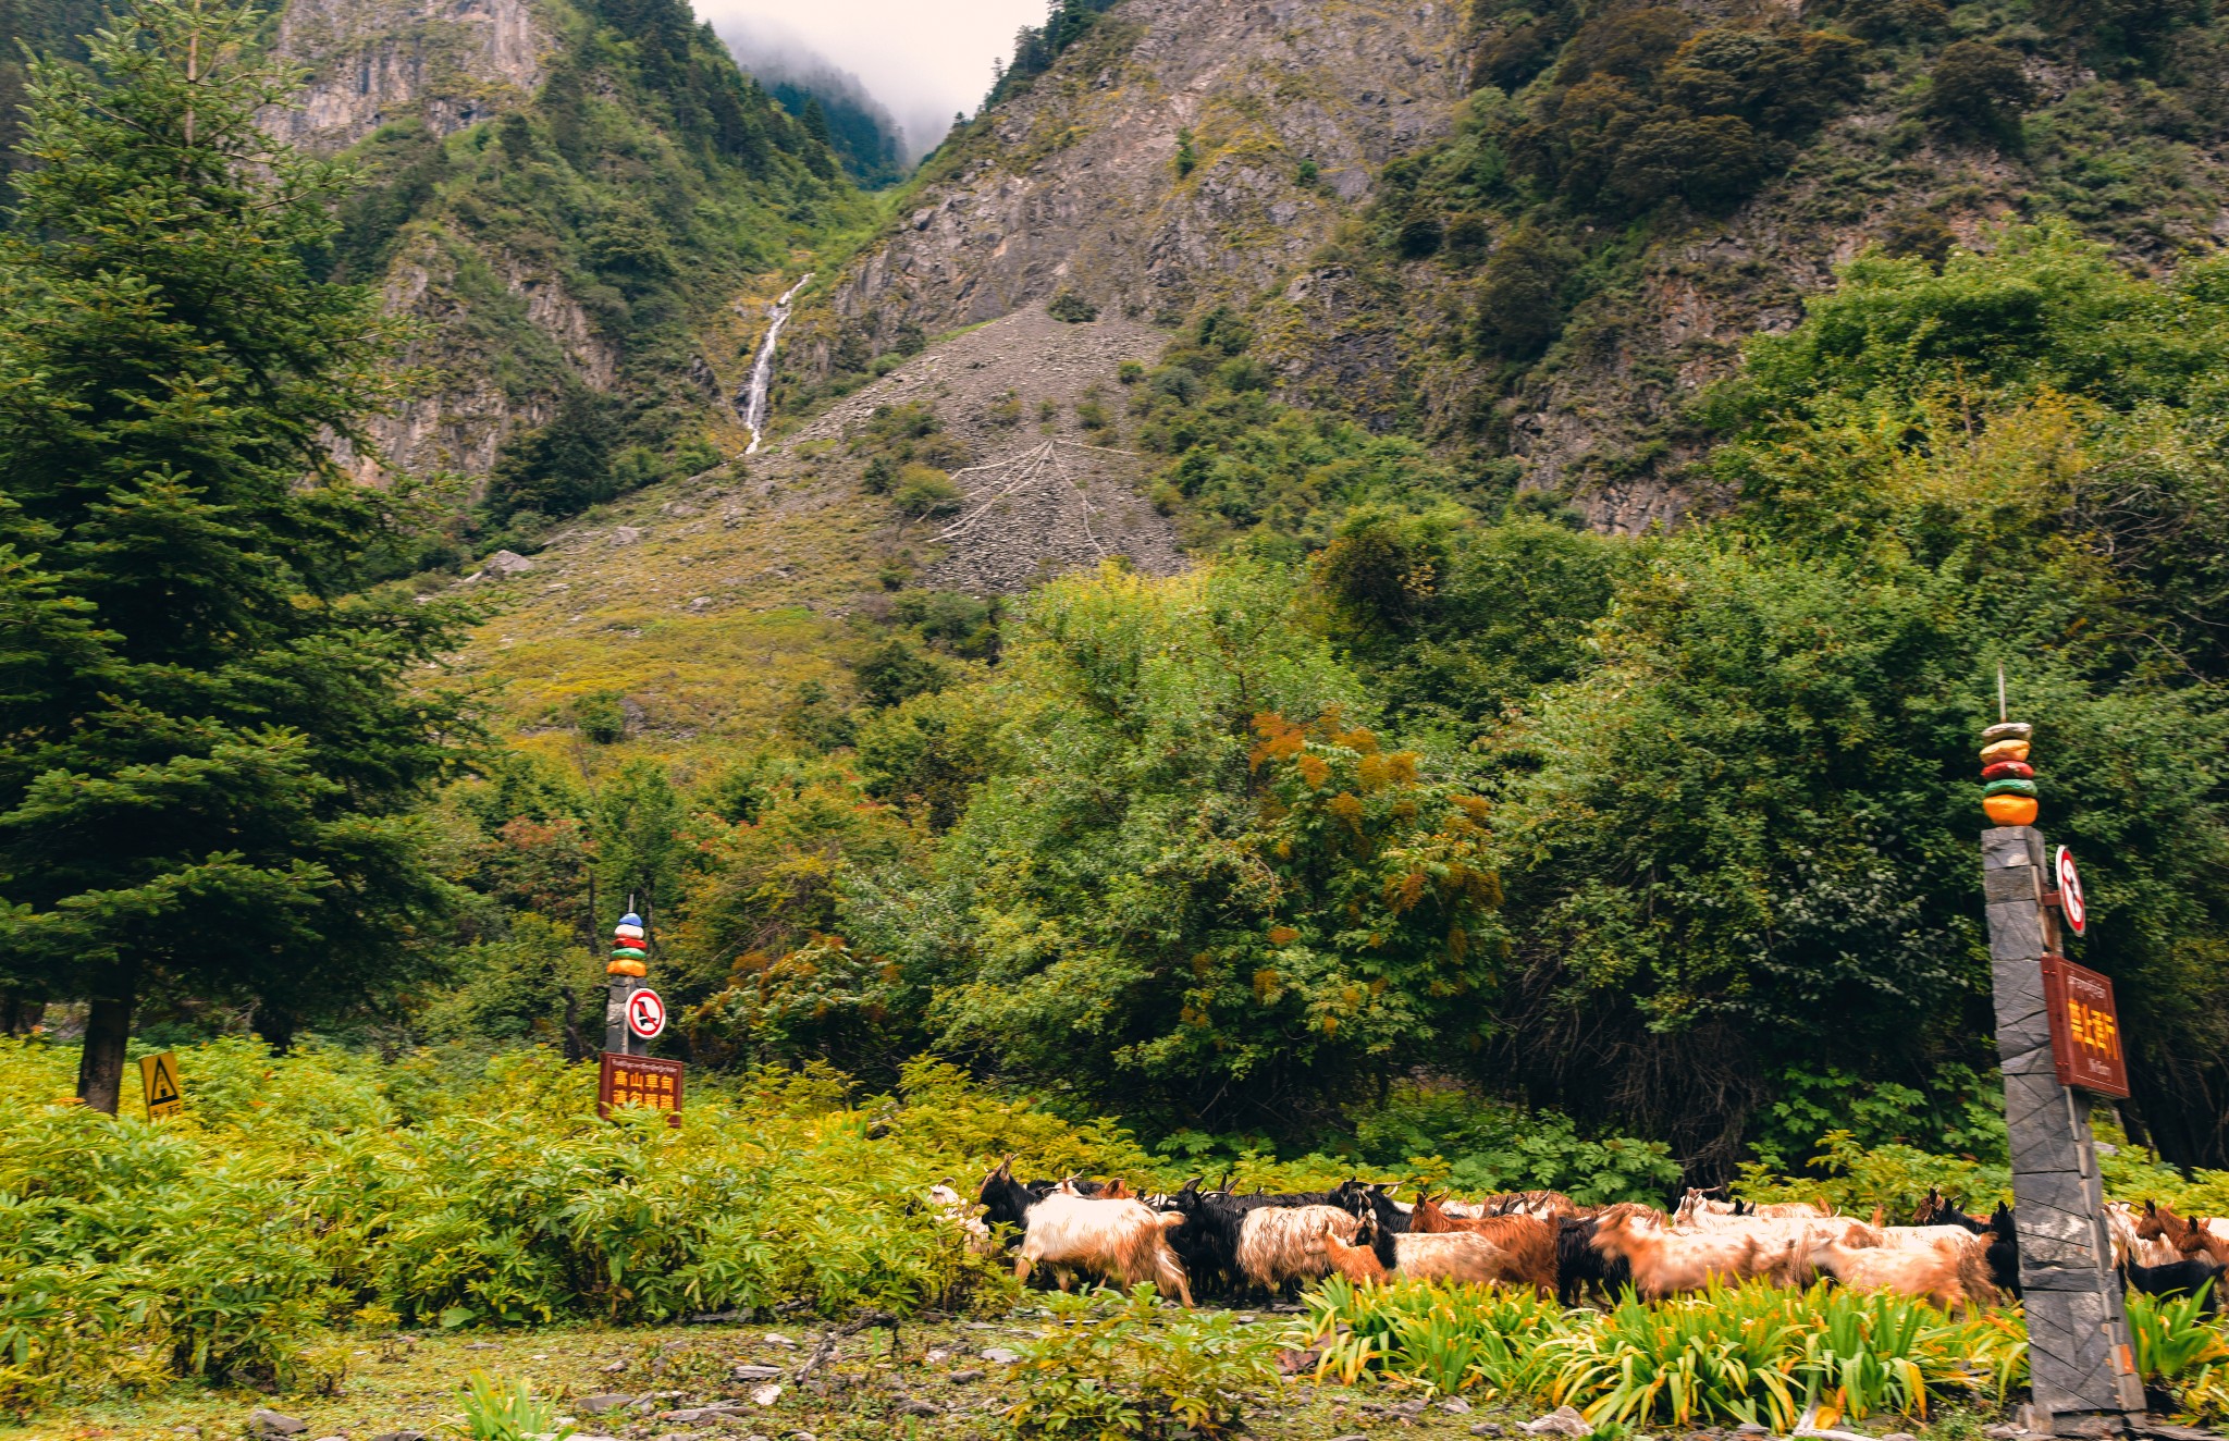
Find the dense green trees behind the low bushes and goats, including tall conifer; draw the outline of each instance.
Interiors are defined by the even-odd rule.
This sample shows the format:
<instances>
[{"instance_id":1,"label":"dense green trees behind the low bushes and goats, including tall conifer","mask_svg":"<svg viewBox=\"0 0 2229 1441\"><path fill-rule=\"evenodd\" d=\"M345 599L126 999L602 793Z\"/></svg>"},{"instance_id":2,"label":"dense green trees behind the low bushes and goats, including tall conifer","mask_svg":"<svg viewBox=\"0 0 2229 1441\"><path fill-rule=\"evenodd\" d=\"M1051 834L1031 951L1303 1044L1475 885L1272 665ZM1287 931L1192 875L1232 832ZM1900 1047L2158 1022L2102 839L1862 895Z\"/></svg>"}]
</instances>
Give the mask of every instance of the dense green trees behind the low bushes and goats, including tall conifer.
<instances>
[{"instance_id":1,"label":"dense green trees behind the low bushes and goats, including tall conifer","mask_svg":"<svg viewBox=\"0 0 2229 1441\"><path fill-rule=\"evenodd\" d=\"M1725 506L1641 538L1273 399L1217 308L1119 406L1193 573L901 580L856 687L800 689L780 734L606 765L611 694L562 718L559 770L426 680L473 613L381 584L459 522L430 535L319 448L410 379L370 283L412 228L584 257L646 388L568 390L506 451L490 524L531 531L691 464L658 451L689 444L658 386L704 277L780 234L724 176L820 223L854 203L829 149L651 4L591 16L531 112L254 176L290 71L241 47L232 109L187 105L163 67L189 20L147 16L38 71L0 330L0 964L11 1024L91 1004L89 1100L127 1022L593 1053L595 941L633 899L662 1044L709 1066L894 1084L936 1053L1201 1158L1366 1149L1418 1077L1469 1097L1433 1147L1473 1155L1534 1133L1725 1178L1850 1129L1988 1158L1970 752L2002 665L2093 877L2082 959L2124 988L2131 1131L2229 1160L2218 261L2142 272L2017 221L1870 250L1685 417ZM1701 62L1661 40L1649 65ZM1837 94L1841 40L1772 45ZM660 167L600 170L629 147ZM149 259L152 194L265 270ZM127 223L87 228L105 207ZM105 274L149 299L80 303Z\"/></svg>"}]
</instances>

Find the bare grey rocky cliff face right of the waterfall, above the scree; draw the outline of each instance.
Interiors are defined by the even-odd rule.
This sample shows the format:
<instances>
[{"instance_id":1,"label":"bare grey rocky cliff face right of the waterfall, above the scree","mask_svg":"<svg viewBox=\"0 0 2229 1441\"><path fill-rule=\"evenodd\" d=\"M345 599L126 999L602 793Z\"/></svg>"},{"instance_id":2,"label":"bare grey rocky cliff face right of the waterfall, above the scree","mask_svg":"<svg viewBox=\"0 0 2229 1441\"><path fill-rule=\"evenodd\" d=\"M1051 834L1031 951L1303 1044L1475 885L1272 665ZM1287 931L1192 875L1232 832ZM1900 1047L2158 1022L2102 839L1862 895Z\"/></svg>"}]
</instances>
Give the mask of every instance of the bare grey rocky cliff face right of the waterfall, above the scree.
<instances>
[{"instance_id":1,"label":"bare grey rocky cliff face right of the waterfall, above the scree","mask_svg":"<svg viewBox=\"0 0 2229 1441\"><path fill-rule=\"evenodd\" d=\"M798 328L845 368L901 330L1057 292L1135 317L1250 297L1442 134L1467 87L1451 0L1128 0L932 158ZM856 366L854 366L856 368Z\"/></svg>"}]
</instances>

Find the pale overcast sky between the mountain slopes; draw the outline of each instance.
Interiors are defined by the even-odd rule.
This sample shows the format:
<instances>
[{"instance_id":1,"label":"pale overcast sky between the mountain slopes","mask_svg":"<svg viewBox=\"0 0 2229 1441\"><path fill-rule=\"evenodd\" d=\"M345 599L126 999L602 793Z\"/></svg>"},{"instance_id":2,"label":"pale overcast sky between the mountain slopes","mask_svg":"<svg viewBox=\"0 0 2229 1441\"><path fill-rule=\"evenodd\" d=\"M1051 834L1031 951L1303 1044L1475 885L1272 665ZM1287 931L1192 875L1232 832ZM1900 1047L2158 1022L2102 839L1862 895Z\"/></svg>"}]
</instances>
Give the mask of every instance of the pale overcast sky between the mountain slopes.
<instances>
[{"instance_id":1,"label":"pale overcast sky between the mountain slopes","mask_svg":"<svg viewBox=\"0 0 2229 1441\"><path fill-rule=\"evenodd\" d=\"M867 83L916 147L943 138L952 112L974 112L990 89L992 58L1008 58L1014 29L1039 25L1045 0L693 0L713 27L796 36Z\"/></svg>"}]
</instances>

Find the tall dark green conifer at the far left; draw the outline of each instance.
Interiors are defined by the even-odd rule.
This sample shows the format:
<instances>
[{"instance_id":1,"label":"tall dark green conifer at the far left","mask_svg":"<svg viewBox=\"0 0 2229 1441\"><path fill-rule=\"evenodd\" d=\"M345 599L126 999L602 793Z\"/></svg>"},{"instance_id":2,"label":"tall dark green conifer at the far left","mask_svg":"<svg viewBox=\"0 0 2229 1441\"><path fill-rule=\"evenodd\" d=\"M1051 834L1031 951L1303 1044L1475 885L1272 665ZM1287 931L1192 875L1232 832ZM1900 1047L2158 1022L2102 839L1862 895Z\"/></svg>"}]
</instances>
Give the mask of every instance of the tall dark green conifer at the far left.
<instances>
[{"instance_id":1,"label":"tall dark green conifer at the far left","mask_svg":"<svg viewBox=\"0 0 2229 1441\"><path fill-rule=\"evenodd\" d=\"M301 85L259 22L143 0L33 65L0 241L0 988L89 1002L100 1111L138 999L283 1035L448 897L410 807L461 712L406 674L466 616L363 593L401 520L332 446L395 332L305 268L348 174L256 127Z\"/></svg>"}]
</instances>

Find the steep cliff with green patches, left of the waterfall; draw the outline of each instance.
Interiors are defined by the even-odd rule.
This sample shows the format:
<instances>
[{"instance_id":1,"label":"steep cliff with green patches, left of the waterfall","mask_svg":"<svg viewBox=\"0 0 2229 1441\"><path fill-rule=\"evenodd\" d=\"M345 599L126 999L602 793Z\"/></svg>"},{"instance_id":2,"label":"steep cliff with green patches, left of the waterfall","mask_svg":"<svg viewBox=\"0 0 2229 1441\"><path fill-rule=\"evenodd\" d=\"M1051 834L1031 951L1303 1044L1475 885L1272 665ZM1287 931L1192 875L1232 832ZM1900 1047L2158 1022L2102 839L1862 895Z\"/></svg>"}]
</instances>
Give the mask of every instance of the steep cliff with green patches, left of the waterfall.
<instances>
[{"instance_id":1,"label":"steep cliff with green patches, left of the waterfall","mask_svg":"<svg viewBox=\"0 0 2229 1441\"><path fill-rule=\"evenodd\" d=\"M368 176L334 272L421 321L428 384L374 422L383 464L357 468L455 473L499 518L729 448L729 303L863 214L827 145L680 0L292 0L279 45L312 78L272 129ZM577 444L513 455L559 413Z\"/></svg>"}]
</instances>

